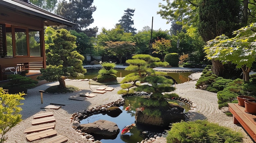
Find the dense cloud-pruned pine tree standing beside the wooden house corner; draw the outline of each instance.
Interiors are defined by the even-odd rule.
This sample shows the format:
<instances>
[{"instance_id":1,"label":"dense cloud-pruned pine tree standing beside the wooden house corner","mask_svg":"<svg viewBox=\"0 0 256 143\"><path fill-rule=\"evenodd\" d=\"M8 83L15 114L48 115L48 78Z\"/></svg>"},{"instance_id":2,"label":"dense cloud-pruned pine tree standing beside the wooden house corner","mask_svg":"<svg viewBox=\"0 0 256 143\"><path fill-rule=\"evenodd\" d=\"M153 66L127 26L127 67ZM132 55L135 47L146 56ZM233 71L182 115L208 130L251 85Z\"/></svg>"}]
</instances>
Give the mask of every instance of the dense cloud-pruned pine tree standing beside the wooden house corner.
<instances>
[{"instance_id":1,"label":"dense cloud-pruned pine tree standing beside the wooden house corner","mask_svg":"<svg viewBox=\"0 0 256 143\"><path fill-rule=\"evenodd\" d=\"M51 35L45 35L47 39L51 39L52 43L49 43L49 51L46 53L47 62L49 66L46 69L41 69L42 76L37 79L45 79L47 81L59 81L60 88L66 88L65 77L76 77L78 73L86 73L86 69L83 68L83 55L74 51L76 48L76 37L71 35L66 29L47 29L51 31ZM46 31L46 33L49 33ZM47 47L48 47L47 46Z\"/></svg>"}]
</instances>

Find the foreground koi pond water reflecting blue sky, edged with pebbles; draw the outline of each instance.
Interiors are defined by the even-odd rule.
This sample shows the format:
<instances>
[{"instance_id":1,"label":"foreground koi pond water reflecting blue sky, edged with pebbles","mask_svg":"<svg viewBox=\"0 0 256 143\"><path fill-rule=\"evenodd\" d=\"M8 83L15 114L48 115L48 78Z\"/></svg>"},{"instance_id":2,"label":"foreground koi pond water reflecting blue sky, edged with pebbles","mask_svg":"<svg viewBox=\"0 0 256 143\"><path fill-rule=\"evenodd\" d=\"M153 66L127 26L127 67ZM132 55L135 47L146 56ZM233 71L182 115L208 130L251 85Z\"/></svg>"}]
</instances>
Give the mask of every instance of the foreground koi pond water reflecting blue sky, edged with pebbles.
<instances>
[{"instance_id":1,"label":"foreground koi pond water reflecting blue sky, edged with pebbles","mask_svg":"<svg viewBox=\"0 0 256 143\"><path fill-rule=\"evenodd\" d=\"M94 135L94 139L101 141L102 143L137 143L141 142L141 140L145 139L146 137L142 136L143 131L149 131L149 132L157 132L157 133L162 133L165 130L169 130L169 127L165 128L159 128L159 126L152 126L152 125L140 125L136 124L136 127L133 127L130 129L129 133L121 135L121 130L123 130L127 125L130 125L132 123L135 123L135 107L138 101L138 98L141 98L140 96L132 96L132 97L124 97L125 99L125 104L124 106L120 106L119 108L123 111L118 117L110 117L107 114L95 114L92 115L86 119L83 119L80 121L81 124L86 124L86 123L92 123L94 121L98 121L100 119L102 120L107 120L107 121L112 121L116 123L120 129L119 134L117 137L114 137L114 139L110 138L101 138L99 136ZM169 102L172 103L177 103L178 105L182 106L185 111L187 112L190 110L190 107L181 101L177 100L169 100ZM126 111L125 108L128 105L131 105L130 110Z\"/></svg>"}]
</instances>

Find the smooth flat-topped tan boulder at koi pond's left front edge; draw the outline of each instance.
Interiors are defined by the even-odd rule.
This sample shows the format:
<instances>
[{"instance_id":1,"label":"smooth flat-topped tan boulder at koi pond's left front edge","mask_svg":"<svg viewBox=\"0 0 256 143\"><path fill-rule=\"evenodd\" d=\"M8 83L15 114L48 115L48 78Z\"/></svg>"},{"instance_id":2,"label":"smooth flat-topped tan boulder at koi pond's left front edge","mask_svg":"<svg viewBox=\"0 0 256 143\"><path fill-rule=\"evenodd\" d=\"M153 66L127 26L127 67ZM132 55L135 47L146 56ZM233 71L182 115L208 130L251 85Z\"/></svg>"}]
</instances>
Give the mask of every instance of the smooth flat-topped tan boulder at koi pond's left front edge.
<instances>
[{"instance_id":1,"label":"smooth flat-topped tan boulder at koi pond's left front edge","mask_svg":"<svg viewBox=\"0 0 256 143\"><path fill-rule=\"evenodd\" d=\"M116 123L106 120L98 120L93 123L81 124L80 128L82 132L102 136L115 136L120 132Z\"/></svg>"}]
</instances>

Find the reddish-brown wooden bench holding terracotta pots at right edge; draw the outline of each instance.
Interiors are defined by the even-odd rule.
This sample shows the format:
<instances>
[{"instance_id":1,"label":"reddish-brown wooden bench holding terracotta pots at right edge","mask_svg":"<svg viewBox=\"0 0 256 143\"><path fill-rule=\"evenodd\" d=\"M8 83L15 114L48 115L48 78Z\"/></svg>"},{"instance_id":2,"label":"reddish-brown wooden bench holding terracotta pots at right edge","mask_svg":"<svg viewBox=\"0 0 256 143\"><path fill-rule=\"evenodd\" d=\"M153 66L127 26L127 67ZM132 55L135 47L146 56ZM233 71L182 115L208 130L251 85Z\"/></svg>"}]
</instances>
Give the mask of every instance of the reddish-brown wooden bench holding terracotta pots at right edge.
<instances>
[{"instance_id":1,"label":"reddish-brown wooden bench holding terracotta pots at right edge","mask_svg":"<svg viewBox=\"0 0 256 143\"><path fill-rule=\"evenodd\" d=\"M233 123L241 124L247 133L256 141L256 115L245 112L238 103L228 103L229 111L233 114Z\"/></svg>"}]
</instances>

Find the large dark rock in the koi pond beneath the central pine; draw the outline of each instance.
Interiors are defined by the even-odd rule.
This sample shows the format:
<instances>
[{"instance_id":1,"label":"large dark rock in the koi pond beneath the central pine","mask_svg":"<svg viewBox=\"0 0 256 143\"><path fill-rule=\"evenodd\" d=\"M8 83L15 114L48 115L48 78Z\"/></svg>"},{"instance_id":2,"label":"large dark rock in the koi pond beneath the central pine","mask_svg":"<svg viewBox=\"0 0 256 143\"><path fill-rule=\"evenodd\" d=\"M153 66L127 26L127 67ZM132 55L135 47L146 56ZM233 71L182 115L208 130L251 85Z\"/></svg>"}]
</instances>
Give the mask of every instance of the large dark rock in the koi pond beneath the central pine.
<instances>
[{"instance_id":1,"label":"large dark rock in the koi pond beneath the central pine","mask_svg":"<svg viewBox=\"0 0 256 143\"><path fill-rule=\"evenodd\" d=\"M175 106L170 110L162 111L160 117L148 116L141 111L136 111L135 121L140 124L167 127L170 123L180 122L185 119L184 108Z\"/></svg>"}]
</instances>

